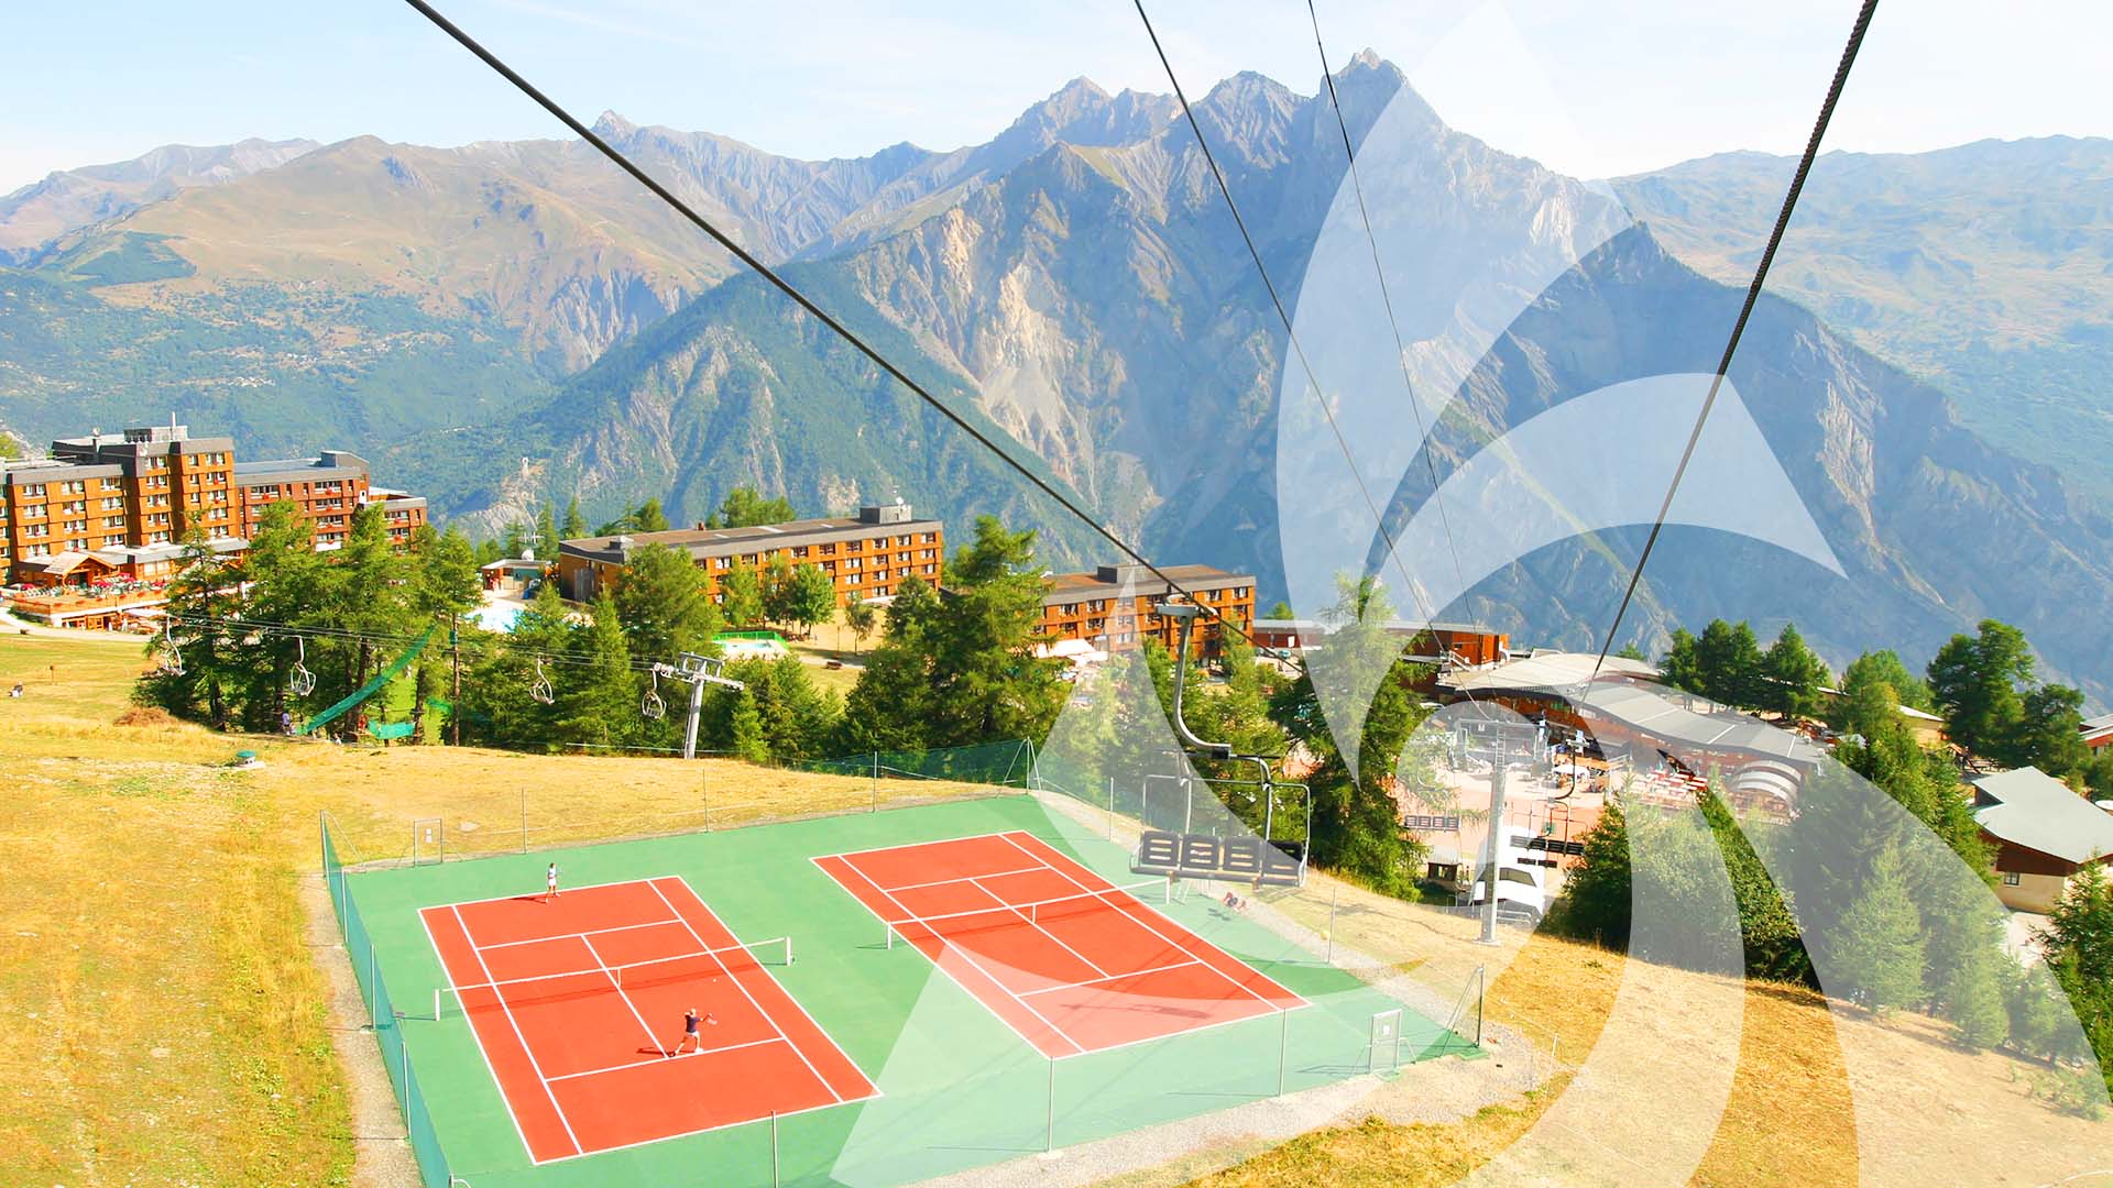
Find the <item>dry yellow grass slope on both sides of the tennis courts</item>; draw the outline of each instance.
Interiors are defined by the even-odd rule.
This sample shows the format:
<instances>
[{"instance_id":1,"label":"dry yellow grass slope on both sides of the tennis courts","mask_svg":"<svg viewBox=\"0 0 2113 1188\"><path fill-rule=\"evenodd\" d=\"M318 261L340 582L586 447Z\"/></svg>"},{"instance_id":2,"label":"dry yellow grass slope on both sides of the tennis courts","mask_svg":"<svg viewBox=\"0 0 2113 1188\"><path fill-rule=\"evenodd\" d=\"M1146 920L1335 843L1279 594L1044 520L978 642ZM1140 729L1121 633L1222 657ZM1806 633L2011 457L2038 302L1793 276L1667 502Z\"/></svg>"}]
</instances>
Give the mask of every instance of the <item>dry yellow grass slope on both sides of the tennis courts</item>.
<instances>
[{"instance_id":1,"label":"dry yellow grass slope on both sides of the tennis courts","mask_svg":"<svg viewBox=\"0 0 2113 1188\"><path fill-rule=\"evenodd\" d=\"M25 698L0 700L0 1184L308 1186L372 1169L359 1163L361 1139L389 1135L353 1122L311 951L323 932L304 905L317 896L302 894L313 892L319 812L349 860L378 860L406 856L420 818L442 818L448 850L463 854L518 848L524 805L528 843L547 846L845 812L875 797L866 780L721 761L216 736L127 714L139 666L137 643L0 636L0 687L27 685ZM230 769L239 748L262 765ZM883 782L877 803L970 793ZM1435 989L1492 962L1490 1019L1566 1070L1616 1008L1616 953L1534 936L1492 958L1466 945L1473 922L1331 879L1272 903L1325 928L1331 890L1342 945ZM1741 994L1663 970L1646 989L1650 1029L1629 1042L1663 1051L1697 1042L1712 994ZM1737 1002L1737 1076L1693 1184L1834 1186L1859 1173L1866 1184L2045 1184L2056 1180L2047 1169L1995 1152L2022 1144L2073 1171L2054 1156L2107 1144L2105 1122L2028 1101L2031 1070L1955 1051L1921 1019L1838 1017L1792 987L1743 987ZM1870 1065L1853 1074L1838 1036L1912 1070L1912 1084L1864 1084ZM1555 1125L1566 1091L1583 1091L1570 1076L1462 1122L1316 1131L1198 1184L1450 1184ZM1887 1118L1859 1114L1853 1082ZM2001 1118L1961 1108L1988 1095L2012 1108Z\"/></svg>"}]
</instances>

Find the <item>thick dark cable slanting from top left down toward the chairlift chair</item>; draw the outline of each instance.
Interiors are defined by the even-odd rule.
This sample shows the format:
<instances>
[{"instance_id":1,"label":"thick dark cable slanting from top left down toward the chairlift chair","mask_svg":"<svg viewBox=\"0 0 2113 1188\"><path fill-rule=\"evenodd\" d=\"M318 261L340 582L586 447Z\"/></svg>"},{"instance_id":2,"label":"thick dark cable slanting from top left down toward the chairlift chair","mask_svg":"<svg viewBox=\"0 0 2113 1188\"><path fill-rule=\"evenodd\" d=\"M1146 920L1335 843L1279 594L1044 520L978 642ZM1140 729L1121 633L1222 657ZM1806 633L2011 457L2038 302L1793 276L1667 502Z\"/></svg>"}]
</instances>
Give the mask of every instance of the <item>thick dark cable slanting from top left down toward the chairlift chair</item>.
<instances>
[{"instance_id":1,"label":"thick dark cable slanting from top left down toward the chairlift chair","mask_svg":"<svg viewBox=\"0 0 2113 1188\"><path fill-rule=\"evenodd\" d=\"M702 214L697 214L695 209L691 209L689 203L685 203L682 199L674 197L674 192L670 192L666 186L661 186L659 182L655 182L651 173L647 173L644 169L640 169L636 163L632 163L630 156L625 156L615 146L611 146L606 140L602 140L600 135L596 135L594 129L590 129L587 125L579 123L579 118L575 118L568 110L564 110L556 99L551 99L549 95L545 95L543 91L539 91L532 82L528 82L526 78L522 78L499 55L494 55L492 51L488 51L482 44L478 44L478 40L471 38L469 34L465 34L454 21L450 21L448 17L442 17L437 8L433 8L431 4L427 4L427 0L404 0L404 2L410 4L412 8L416 8L440 32L448 34L463 49L467 49L469 53L473 53L480 61L484 61L484 66L490 66L501 78L505 78L507 82L511 82L516 91L520 91L522 95L535 99L535 104L541 106L545 112L549 112L551 116L556 116L558 123L562 123L564 127L573 129L573 135L577 135L577 137L585 140L590 146L594 146L596 152L600 152L613 165L617 165L619 169L623 169L625 173L630 173L640 186L644 186L647 190L651 190L653 197L657 197L659 201L668 203L676 214L680 214L685 220L689 220L697 230L710 235L712 241L718 243L721 247L725 247L727 252L731 252L735 260L740 260L752 273L756 273L759 277L763 277L765 281L769 281L778 292L782 292L784 296L792 298L792 302L799 304L803 311L807 311L809 317L814 317L816 321L820 321L822 326L826 326L830 332L835 332L839 338L843 338L852 349L856 349L860 355L864 355L868 361L873 361L873 366L877 366L883 372L887 372L890 376L894 376L896 383L900 383L902 387L911 389L917 395L917 400L923 400L928 406L932 406L934 412L938 412L940 416L945 416L947 421L951 421L957 429L961 429L964 433L968 433L976 444L980 444L983 448L987 448L993 454L997 454L999 461L1004 461L1008 467L1012 467L1021 478L1025 478L1027 482L1035 484L1035 488L1040 488L1044 495L1048 495L1050 499L1054 499L1059 507L1063 507L1065 512L1069 512L1071 516L1076 516L1080 522L1084 522L1086 526L1090 526L1101 539L1105 539L1107 543L1116 545L1116 550L1120 550L1122 556L1126 556L1126 558L1135 560L1137 564L1145 567L1154 577L1158 577L1160 581L1164 581L1171 592L1181 594L1183 598L1188 598L1190 602L1194 602L1196 607L1200 607L1209 617L1217 619L1217 624L1221 628L1232 628L1249 645L1255 643L1255 638L1251 634L1247 634L1247 630L1242 630L1238 624L1234 624L1232 619L1228 619L1226 615L1221 615L1217 609L1213 609L1213 607L1204 605L1202 600L1198 600L1194 594L1190 594L1173 577L1166 577L1166 573L1162 573L1160 567L1156 567L1149 560L1145 560L1145 556L1141 552L1137 552L1135 547L1130 547L1122 537L1118 537L1105 524L1101 524L1099 520L1095 520L1092 516L1088 516L1084 507L1080 507L1078 503L1073 503L1061 490L1056 490L1054 486L1050 486L1048 480L1044 480L1033 469L1029 469L1025 463L1021 463L1018 459L1014 459L1004 446L999 446L989 435L985 435L980 429L976 429L974 425L970 425L947 402L942 402L940 397L936 397L930 391L925 391L925 387L921 383L913 380L902 368L898 368L892 361L887 361L885 355L881 355L877 349L873 349L864 338L860 338L858 334L854 334L847 326L843 326L841 321L837 321L835 317L830 317L820 304L816 304L814 300L809 300L807 294L803 294L797 287L792 287L792 283L786 281L784 277L780 277L769 264L765 264L763 260L750 256L740 243L733 241L733 237L729 237L727 233L723 233L721 228L716 228L710 220L706 220Z\"/></svg>"}]
</instances>

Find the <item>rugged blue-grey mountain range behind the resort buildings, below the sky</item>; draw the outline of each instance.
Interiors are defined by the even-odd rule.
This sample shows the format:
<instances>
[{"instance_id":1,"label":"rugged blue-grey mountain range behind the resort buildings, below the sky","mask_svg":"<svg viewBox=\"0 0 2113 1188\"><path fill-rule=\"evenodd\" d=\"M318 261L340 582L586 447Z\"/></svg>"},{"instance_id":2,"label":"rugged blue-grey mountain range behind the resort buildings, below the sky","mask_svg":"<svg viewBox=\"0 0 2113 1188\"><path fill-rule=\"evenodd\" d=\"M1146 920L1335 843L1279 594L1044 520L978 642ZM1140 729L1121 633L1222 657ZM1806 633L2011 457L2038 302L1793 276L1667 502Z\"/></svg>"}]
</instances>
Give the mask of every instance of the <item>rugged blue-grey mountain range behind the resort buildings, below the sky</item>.
<instances>
[{"instance_id":1,"label":"rugged blue-grey mountain range behind the resort buildings, below the sky","mask_svg":"<svg viewBox=\"0 0 2113 1188\"><path fill-rule=\"evenodd\" d=\"M1409 104L1411 165L1365 184L1416 199L1378 211L1376 235L1418 237L1433 277L1462 266L1456 245L1574 216L1585 186L1447 129L1369 53L1335 82L1352 140ZM1295 298L1344 178L1333 110L1242 74L1196 114ZM615 114L596 129L1152 556L1283 590L1283 326L1171 97L1078 80L983 146L824 163ZM1838 662L1927 655L1999 615L2056 672L2113 693L2113 522L2092 497L2105 467L2071 431L2035 438L2113 406L2113 275L2092 273L2113 150L1840 156L1815 171L1733 380L1847 579L1671 528L1629 634L1796 617ZM2005 190L2005 161L2012 180L2037 163L2028 197ZM1709 370L1781 169L1735 154L1616 180L1642 224L1502 328L1435 457L1458 465L1606 383ZM1938 180L1950 190L1923 209ZM23 194L0 211L30 209ZM1046 526L1052 564L1109 560L581 144L308 148L76 218L15 264L0 271L0 421L25 438L175 410L258 450L353 438L393 482L484 528L573 493L590 514L651 495L702 518L750 484L814 512L902 495L961 528L997 512ZM2067 385L2060 400L2041 372ZM2052 421L2005 412L2041 397ZM1587 645L1638 545L1606 531L1536 552L1454 613Z\"/></svg>"}]
</instances>

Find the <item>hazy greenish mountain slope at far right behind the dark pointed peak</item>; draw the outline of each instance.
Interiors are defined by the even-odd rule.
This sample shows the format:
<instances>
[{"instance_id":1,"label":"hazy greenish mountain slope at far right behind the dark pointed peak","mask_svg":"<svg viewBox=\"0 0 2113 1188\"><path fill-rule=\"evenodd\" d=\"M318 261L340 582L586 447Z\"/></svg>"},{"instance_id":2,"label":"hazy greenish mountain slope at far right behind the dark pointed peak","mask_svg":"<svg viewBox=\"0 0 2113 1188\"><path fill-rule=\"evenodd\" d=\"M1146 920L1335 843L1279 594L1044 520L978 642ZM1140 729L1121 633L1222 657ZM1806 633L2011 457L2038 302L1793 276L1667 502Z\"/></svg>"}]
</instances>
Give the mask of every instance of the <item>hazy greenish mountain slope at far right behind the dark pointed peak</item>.
<instances>
[{"instance_id":1,"label":"hazy greenish mountain slope at far right behind the dark pointed peak","mask_svg":"<svg viewBox=\"0 0 2113 1188\"><path fill-rule=\"evenodd\" d=\"M1616 190L1676 256L1745 283L1792 167L1731 152ZM2113 142L1830 152L1769 287L1942 387L1990 442L2113 497Z\"/></svg>"}]
</instances>

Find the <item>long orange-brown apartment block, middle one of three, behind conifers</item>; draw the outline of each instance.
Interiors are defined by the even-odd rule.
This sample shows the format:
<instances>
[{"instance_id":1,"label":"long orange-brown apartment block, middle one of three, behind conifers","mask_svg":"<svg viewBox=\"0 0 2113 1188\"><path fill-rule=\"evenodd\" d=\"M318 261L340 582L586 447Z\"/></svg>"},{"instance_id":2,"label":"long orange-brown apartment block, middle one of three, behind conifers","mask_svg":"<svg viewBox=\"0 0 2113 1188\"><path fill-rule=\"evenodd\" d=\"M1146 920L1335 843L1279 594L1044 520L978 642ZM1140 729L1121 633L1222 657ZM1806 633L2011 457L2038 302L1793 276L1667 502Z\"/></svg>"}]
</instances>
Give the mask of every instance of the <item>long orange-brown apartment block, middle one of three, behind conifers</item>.
<instances>
[{"instance_id":1,"label":"long orange-brown apartment block, middle one of three, behind conifers","mask_svg":"<svg viewBox=\"0 0 2113 1188\"><path fill-rule=\"evenodd\" d=\"M837 586L837 605L887 598L904 577L938 586L945 575L947 539L938 520L917 520L906 503L860 507L858 516L790 520L750 528L670 528L564 541L558 550L558 590L587 602L602 588L623 579L630 558L647 545L668 545L689 554L706 575L712 600L725 600L718 583L744 562L763 569L771 558L792 567L814 564Z\"/></svg>"}]
</instances>

